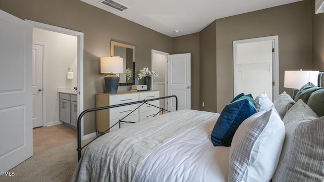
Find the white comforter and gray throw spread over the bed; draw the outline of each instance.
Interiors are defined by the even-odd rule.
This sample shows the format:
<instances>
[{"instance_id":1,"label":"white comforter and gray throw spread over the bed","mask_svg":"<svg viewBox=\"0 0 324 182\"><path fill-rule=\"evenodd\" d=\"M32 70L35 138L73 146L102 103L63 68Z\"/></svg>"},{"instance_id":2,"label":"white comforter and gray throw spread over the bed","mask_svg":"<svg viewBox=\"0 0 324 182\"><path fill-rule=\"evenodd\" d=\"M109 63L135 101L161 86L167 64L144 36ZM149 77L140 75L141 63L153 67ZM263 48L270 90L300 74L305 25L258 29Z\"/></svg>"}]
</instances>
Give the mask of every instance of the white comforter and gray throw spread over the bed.
<instances>
[{"instance_id":1,"label":"white comforter and gray throw spread over the bed","mask_svg":"<svg viewBox=\"0 0 324 182\"><path fill-rule=\"evenodd\" d=\"M182 110L103 135L72 181L226 181L229 148L213 147L219 114Z\"/></svg>"}]
</instances>

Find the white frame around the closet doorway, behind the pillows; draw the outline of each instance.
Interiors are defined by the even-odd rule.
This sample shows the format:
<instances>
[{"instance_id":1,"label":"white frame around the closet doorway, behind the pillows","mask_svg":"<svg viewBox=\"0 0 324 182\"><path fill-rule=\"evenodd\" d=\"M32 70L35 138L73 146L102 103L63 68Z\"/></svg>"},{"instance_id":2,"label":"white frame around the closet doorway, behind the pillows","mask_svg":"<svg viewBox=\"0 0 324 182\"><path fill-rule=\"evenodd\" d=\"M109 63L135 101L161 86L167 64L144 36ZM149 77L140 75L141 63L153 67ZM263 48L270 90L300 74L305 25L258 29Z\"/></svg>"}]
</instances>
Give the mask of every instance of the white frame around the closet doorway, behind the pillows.
<instances>
[{"instance_id":1,"label":"white frame around the closet doorway, behind the pillows","mask_svg":"<svg viewBox=\"0 0 324 182\"><path fill-rule=\"evenodd\" d=\"M236 90L236 48L237 44L240 43L249 43L249 42L257 42L257 41L265 41L265 40L273 40L274 41L274 61L272 64L272 70L274 71L274 74L272 75L272 81L274 81L274 93L272 101L277 98L279 95L279 37L278 35L273 36L266 36L266 37L258 37L258 38L250 38L250 39L244 39L244 40L235 40L233 41L233 93L235 97L235 90Z\"/></svg>"}]
</instances>

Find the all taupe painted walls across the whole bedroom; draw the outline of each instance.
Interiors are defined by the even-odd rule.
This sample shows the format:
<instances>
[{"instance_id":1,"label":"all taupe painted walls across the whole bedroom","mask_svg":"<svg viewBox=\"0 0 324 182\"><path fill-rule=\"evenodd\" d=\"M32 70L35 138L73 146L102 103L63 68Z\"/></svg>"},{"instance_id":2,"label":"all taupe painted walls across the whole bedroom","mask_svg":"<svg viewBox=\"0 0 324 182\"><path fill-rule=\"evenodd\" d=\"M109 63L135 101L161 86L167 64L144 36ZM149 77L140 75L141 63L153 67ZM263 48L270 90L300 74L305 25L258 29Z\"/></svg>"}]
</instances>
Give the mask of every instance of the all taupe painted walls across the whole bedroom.
<instances>
[{"instance_id":1,"label":"all taupe painted walls across the whole bedroom","mask_svg":"<svg viewBox=\"0 0 324 182\"><path fill-rule=\"evenodd\" d=\"M313 5L304 0L222 18L199 33L171 38L78 0L0 0L0 9L21 19L84 32L85 109L104 92L99 58L109 55L115 40L136 46L137 72L151 67L152 49L191 53L191 108L212 112L221 112L233 97L233 40L279 36L279 93L292 94L284 88L285 70L324 70L324 13L314 15ZM94 119L85 117L86 134L95 131Z\"/></svg>"}]
</instances>

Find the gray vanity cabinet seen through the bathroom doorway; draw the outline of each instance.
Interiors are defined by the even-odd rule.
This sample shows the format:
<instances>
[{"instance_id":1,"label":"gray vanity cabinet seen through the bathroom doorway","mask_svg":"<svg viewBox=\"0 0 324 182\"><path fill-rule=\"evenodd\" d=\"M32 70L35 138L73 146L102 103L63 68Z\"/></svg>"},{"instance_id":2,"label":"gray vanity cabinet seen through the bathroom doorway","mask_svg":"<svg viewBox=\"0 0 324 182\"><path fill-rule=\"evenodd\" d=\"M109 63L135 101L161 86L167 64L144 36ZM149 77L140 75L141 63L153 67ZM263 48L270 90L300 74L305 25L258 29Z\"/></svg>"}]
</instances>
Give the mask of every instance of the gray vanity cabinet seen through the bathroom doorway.
<instances>
[{"instance_id":1,"label":"gray vanity cabinet seen through the bathroom doorway","mask_svg":"<svg viewBox=\"0 0 324 182\"><path fill-rule=\"evenodd\" d=\"M77 102L76 95L59 93L60 98L60 121L65 124L77 127Z\"/></svg>"}]
</instances>

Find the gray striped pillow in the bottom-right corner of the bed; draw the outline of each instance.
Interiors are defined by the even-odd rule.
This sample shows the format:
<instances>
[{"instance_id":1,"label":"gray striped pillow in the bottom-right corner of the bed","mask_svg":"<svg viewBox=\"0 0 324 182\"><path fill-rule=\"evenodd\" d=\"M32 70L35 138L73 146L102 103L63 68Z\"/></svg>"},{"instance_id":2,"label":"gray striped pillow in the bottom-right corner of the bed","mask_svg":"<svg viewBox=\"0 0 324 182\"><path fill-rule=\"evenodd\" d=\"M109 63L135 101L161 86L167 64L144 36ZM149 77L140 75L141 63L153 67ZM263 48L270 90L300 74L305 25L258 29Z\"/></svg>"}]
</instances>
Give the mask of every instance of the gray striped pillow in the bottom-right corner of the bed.
<instances>
[{"instance_id":1,"label":"gray striped pillow in the bottom-right corner of the bed","mask_svg":"<svg viewBox=\"0 0 324 182\"><path fill-rule=\"evenodd\" d=\"M324 116L286 125L273 181L324 181Z\"/></svg>"}]
</instances>

